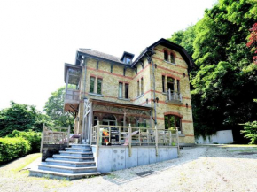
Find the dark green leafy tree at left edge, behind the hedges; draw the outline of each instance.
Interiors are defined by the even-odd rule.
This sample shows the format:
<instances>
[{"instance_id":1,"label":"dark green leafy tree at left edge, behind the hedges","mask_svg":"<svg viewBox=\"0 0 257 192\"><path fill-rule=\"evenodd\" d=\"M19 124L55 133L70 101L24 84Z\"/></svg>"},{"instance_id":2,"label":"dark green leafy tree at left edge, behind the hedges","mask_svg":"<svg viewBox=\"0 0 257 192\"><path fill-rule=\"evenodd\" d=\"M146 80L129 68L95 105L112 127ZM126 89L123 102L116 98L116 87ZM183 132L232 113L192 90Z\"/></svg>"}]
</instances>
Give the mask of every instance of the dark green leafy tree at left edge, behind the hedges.
<instances>
[{"instance_id":1,"label":"dark green leafy tree at left edge, behind the hedges","mask_svg":"<svg viewBox=\"0 0 257 192\"><path fill-rule=\"evenodd\" d=\"M11 102L10 108L0 111L0 137L12 134L13 130L42 131L43 123L51 126L51 119L36 111L35 106Z\"/></svg>"}]
</instances>

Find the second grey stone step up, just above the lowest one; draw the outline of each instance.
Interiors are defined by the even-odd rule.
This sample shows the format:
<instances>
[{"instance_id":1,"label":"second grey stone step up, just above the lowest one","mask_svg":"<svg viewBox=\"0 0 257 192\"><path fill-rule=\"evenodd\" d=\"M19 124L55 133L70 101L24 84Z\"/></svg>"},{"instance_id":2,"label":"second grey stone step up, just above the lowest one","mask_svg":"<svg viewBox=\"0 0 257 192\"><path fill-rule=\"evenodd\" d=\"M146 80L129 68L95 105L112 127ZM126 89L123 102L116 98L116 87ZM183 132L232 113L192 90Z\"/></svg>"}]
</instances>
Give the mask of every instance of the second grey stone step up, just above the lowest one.
<instances>
[{"instance_id":1,"label":"second grey stone step up, just above the lowest one","mask_svg":"<svg viewBox=\"0 0 257 192\"><path fill-rule=\"evenodd\" d=\"M90 167L69 167L61 165L47 165L40 164L38 165L39 170L51 171L51 172L60 172L60 173L92 173L97 172L96 166Z\"/></svg>"}]
</instances>

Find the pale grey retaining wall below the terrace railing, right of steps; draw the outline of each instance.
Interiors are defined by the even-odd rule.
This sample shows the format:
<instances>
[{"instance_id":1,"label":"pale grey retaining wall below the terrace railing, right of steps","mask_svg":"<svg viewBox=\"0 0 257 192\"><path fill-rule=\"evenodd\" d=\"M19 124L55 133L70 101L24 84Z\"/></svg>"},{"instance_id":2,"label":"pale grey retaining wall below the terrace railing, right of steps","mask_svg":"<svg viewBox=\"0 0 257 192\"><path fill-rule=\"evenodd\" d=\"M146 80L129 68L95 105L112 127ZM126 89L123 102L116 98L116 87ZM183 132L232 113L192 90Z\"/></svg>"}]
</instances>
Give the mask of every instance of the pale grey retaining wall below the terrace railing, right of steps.
<instances>
[{"instance_id":1,"label":"pale grey retaining wall below the terrace railing, right of steps","mask_svg":"<svg viewBox=\"0 0 257 192\"><path fill-rule=\"evenodd\" d=\"M95 157L96 150L96 146L92 146ZM177 147L175 146L158 147L158 156L156 156L154 146L133 146L131 150L131 157L129 157L128 146L99 146L97 171L107 173L177 158Z\"/></svg>"}]
</instances>

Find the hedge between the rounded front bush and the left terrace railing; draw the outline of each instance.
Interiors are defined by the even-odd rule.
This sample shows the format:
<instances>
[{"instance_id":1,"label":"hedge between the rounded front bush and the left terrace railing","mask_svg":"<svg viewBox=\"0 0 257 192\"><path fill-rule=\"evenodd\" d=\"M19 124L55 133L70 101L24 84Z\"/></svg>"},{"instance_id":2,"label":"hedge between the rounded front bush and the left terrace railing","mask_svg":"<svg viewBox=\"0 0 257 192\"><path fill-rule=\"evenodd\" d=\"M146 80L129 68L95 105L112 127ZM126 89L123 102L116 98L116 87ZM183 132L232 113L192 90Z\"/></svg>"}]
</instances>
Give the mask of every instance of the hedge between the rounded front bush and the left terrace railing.
<instances>
[{"instance_id":1,"label":"hedge between the rounded front bush and the left terrace railing","mask_svg":"<svg viewBox=\"0 0 257 192\"><path fill-rule=\"evenodd\" d=\"M31 146L31 150L29 152L35 153L39 152L40 146L41 146L41 133L37 133L34 131L12 131L11 137L22 137L24 139L27 139Z\"/></svg>"}]
</instances>

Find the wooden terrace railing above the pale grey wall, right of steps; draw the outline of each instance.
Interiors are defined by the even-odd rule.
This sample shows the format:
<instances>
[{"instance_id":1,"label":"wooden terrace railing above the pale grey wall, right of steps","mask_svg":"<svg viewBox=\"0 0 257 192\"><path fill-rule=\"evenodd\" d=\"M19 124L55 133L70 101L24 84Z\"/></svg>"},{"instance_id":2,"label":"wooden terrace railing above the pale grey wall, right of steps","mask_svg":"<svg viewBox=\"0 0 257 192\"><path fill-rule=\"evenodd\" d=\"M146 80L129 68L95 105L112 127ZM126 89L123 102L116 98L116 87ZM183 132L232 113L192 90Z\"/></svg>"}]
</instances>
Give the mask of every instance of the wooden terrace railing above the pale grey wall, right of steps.
<instances>
[{"instance_id":1,"label":"wooden terrace railing above the pale grey wall, right of steps","mask_svg":"<svg viewBox=\"0 0 257 192\"><path fill-rule=\"evenodd\" d=\"M99 121L98 121L99 122ZM147 127L128 127L99 125L91 127L91 145L128 146L131 156L132 146L175 146L179 150L178 130L165 130ZM179 151L178 151L179 152Z\"/></svg>"}]
</instances>

